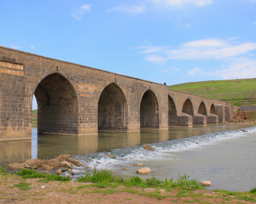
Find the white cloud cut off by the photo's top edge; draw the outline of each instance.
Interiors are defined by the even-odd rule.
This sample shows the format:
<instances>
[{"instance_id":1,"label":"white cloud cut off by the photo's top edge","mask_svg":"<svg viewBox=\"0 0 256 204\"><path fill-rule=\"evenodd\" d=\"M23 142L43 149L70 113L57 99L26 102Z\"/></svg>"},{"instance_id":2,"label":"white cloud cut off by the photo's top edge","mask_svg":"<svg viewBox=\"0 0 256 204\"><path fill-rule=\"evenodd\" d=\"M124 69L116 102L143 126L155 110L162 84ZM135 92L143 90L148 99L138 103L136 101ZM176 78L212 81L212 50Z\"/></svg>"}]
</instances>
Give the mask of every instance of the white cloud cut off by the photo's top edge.
<instances>
[{"instance_id":1,"label":"white cloud cut off by the photo's top edge","mask_svg":"<svg viewBox=\"0 0 256 204\"><path fill-rule=\"evenodd\" d=\"M185 4L191 4L195 7L202 7L212 4L212 0L151 0L155 4L173 6L184 6Z\"/></svg>"}]
</instances>

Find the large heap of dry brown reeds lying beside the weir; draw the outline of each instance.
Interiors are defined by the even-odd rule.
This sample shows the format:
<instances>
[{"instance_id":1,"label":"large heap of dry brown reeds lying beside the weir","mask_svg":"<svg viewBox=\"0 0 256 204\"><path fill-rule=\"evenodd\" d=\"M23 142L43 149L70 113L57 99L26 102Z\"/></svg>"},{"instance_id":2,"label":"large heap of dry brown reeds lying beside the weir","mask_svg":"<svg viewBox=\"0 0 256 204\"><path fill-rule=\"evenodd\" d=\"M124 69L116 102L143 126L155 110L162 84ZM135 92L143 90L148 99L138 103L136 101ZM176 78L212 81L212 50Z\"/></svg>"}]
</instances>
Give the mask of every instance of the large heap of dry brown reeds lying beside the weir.
<instances>
[{"instance_id":1,"label":"large heap of dry brown reeds lying beside the weir","mask_svg":"<svg viewBox=\"0 0 256 204\"><path fill-rule=\"evenodd\" d=\"M71 155L69 154L61 154L60 156L56 156L54 159L28 159L23 163L12 163L8 164L7 167L12 169L25 169L25 168L38 168L38 169L44 169L44 170L52 170L59 167L63 167L63 161L67 161L69 163L72 163L76 167L86 167L83 164L81 164L76 159L71 159ZM87 167L88 168L88 167Z\"/></svg>"}]
</instances>

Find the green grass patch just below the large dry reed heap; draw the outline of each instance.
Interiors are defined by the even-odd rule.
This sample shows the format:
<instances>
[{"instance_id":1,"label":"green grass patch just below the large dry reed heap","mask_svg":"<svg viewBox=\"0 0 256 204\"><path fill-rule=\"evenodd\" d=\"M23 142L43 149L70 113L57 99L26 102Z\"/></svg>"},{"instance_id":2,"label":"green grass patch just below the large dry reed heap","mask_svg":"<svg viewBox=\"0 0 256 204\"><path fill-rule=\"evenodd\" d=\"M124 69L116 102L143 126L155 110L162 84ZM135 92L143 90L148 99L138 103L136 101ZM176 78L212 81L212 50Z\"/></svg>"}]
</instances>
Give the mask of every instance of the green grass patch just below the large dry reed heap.
<instances>
[{"instance_id":1,"label":"green grass patch just below the large dry reed heap","mask_svg":"<svg viewBox=\"0 0 256 204\"><path fill-rule=\"evenodd\" d=\"M18 176L22 176L22 178L44 178L40 179L40 182L43 181L71 181L71 178L66 176L61 176L57 174L48 174L48 173L40 173L35 172L32 169L23 169L20 171L16 171Z\"/></svg>"}]
</instances>

